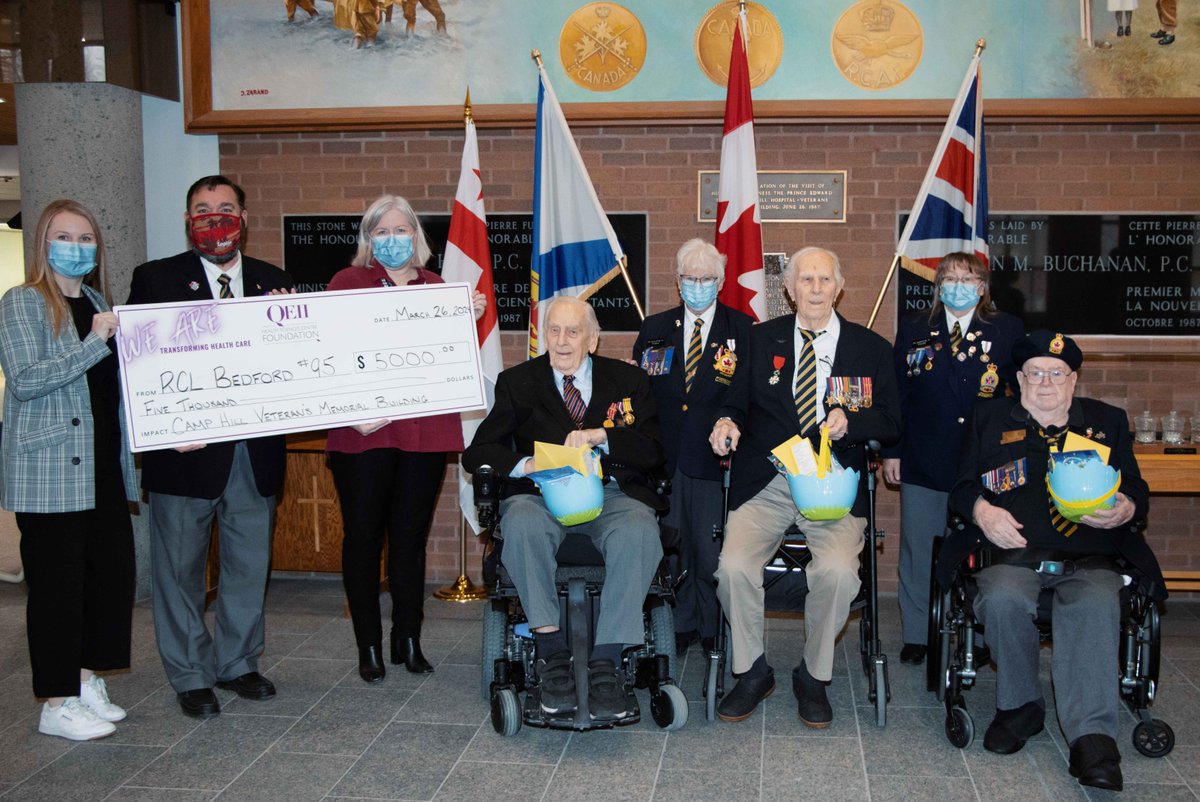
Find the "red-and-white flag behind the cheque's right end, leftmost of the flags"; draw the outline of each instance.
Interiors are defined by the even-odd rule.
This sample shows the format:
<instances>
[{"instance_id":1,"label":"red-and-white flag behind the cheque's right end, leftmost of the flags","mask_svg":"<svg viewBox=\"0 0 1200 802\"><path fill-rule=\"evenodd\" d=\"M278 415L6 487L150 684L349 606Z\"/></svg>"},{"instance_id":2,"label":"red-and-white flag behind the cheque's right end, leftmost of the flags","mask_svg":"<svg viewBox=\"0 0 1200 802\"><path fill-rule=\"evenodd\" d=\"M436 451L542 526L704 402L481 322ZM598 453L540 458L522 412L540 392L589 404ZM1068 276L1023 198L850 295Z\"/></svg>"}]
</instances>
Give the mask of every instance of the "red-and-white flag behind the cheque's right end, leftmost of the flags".
<instances>
[{"instance_id":1,"label":"red-and-white flag behind the cheque's right end, leftmost of the flags","mask_svg":"<svg viewBox=\"0 0 1200 802\"><path fill-rule=\"evenodd\" d=\"M484 395L487 409L462 413L462 439L469 445L475 430L487 417L496 402L496 377L504 367L500 354L500 323L496 312L496 287L492 283L492 256L487 245L487 215L484 211L484 184L479 175L479 143L475 139L475 122L467 120L467 137L462 146L462 172L458 174L458 191L450 214L450 233L446 237L445 261L442 277L446 281L464 281L484 293L487 306L484 316L475 321L479 337L479 361L484 375ZM458 468L458 505L472 529L479 533L475 517L474 492L467 473Z\"/></svg>"}]
</instances>

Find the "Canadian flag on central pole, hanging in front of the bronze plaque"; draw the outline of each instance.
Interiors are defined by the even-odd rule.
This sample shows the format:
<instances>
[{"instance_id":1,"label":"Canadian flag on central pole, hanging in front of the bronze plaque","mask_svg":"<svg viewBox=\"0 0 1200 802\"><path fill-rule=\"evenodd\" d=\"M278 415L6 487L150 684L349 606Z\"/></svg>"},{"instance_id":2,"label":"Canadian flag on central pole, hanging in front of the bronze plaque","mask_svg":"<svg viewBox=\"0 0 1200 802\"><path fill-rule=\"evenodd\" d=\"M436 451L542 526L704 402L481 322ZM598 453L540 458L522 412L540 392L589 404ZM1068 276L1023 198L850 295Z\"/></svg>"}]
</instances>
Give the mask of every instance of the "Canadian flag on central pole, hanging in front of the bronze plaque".
<instances>
[{"instance_id":1,"label":"Canadian flag on central pole, hanging in front of the bronze plaque","mask_svg":"<svg viewBox=\"0 0 1200 802\"><path fill-rule=\"evenodd\" d=\"M742 12L733 30L730 83L725 96L721 176L716 187L716 250L727 257L722 304L767 319L767 280L762 269L762 222L758 217L758 163L754 150L754 106L746 64Z\"/></svg>"}]
</instances>

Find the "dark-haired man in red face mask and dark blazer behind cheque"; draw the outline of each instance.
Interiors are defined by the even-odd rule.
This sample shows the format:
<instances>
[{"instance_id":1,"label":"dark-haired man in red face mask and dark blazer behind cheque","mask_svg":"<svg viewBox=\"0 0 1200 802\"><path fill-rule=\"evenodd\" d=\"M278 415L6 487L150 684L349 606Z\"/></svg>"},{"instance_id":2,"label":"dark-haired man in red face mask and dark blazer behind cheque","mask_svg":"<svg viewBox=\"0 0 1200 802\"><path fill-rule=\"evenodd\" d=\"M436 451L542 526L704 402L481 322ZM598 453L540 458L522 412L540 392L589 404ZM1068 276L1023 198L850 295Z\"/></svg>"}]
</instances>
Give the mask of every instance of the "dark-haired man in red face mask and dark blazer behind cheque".
<instances>
[{"instance_id":1,"label":"dark-haired man in red face mask and dark blazer behind cheque","mask_svg":"<svg viewBox=\"0 0 1200 802\"><path fill-rule=\"evenodd\" d=\"M187 191L192 250L139 265L130 304L245 298L289 292L290 276L241 253L246 196L223 175ZM275 495L283 485L283 437L193 444L142 455L150 495L154 621L167 680L188 716L221 712L212 686L269 699L258 672L263 597L271 561ZM215 632L204 623L204 567L214 515L221 538Z\"/></svg>"}]
</instances>

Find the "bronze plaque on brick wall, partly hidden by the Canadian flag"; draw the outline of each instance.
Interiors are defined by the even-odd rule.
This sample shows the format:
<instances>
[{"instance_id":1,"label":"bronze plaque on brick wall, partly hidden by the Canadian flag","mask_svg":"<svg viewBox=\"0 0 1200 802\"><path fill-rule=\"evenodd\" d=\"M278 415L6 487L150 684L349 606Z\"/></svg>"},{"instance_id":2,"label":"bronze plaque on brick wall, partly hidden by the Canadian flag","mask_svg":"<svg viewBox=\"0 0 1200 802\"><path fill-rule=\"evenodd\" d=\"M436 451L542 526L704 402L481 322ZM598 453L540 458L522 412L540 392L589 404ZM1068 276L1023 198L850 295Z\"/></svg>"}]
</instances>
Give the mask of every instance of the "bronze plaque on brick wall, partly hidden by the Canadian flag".
<instances>
[{"instance_id":1,"label":"bronze plaque on brick wall, partly hidden by the Canadian flag","mask_svg":"<svg viewBox=\"0 0 1200 802\"><path fill-rule=\"evenodd\" d=\"M696 220L716 222L720 170L698 170ZM846 170L758 170L758 217L775 223L846 222Z\"/></svg>"}]
</instances>

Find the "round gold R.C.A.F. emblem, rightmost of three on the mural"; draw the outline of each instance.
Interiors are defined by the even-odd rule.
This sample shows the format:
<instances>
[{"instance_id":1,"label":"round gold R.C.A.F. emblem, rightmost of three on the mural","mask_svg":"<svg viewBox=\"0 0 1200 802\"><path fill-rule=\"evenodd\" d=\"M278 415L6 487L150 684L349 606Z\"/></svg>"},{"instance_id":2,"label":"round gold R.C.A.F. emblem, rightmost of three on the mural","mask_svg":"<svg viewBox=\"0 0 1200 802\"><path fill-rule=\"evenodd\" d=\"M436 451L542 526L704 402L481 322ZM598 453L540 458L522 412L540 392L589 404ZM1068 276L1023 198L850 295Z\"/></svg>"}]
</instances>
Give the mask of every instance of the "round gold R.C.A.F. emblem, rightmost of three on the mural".
<instances>
[{"instance_id":1,"label":"round gold R.C.A.F. emblem, rightmost of three on the mural","mask_svg":"<svg viewBox=\"0 0 1200 802\"><path fill-rule=\"evenodd\" d=\"M850 83L882 91L920 64L924 34L917 14L895 0L860 0L833 26L833 60Z\"/></svg>"}]
</instances>

